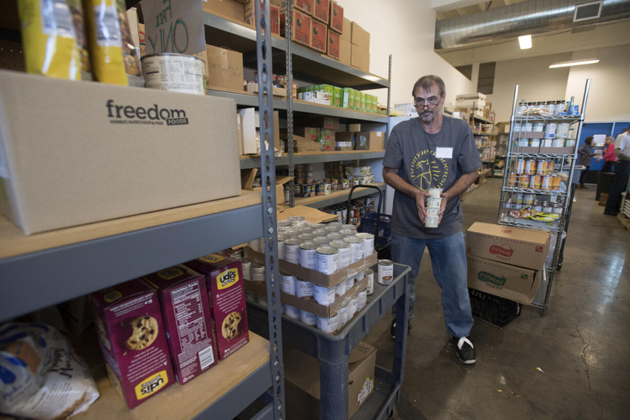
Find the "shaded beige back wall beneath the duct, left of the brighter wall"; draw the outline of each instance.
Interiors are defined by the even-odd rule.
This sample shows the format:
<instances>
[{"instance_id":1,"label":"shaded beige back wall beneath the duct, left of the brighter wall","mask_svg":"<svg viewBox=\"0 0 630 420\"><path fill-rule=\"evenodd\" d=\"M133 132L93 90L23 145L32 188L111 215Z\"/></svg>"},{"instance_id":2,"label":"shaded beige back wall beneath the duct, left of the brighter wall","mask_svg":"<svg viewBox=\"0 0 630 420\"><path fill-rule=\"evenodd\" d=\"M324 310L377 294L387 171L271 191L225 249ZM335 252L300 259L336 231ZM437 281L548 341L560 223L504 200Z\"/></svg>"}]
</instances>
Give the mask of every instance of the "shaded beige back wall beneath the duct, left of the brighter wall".
<instances>
[{"instance_id":1,"label":"shaded beige back wall beneath the duct, left of the brighter wall","mask_svg":"<svg viewBox=\"0 0 630 420\"><path fill-rule=\"evenodd\" d=\"M495 121L510 120L515 85L518 85L518 102L565 99L569 67L549 69L549 64L569 60L570 52L496 62L495 86L486 99L492 102Z\"/></svg>"}]
</instances>

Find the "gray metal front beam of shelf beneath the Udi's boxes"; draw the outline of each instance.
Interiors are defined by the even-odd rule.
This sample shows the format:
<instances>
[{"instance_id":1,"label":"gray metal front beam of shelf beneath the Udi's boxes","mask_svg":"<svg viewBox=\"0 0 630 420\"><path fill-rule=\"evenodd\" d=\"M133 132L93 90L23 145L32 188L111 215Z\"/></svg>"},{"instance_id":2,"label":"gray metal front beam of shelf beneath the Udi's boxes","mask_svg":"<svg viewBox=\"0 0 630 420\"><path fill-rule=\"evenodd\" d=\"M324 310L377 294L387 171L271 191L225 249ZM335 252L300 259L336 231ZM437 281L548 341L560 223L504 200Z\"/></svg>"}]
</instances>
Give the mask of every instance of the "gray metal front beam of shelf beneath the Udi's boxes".
<instances>
[{"instance_id":1,"label":"gray metal front beam of shelf beneath the Udi's boxes","mask_svg":"<svg viewBox=\"0 0 630 420\"><path fill-rule=\"evenodd\" d=\"M221 398L203 409L193 420L232 419L272 387L269 365L265 363L231 388ZM267 407L261 413L268 412ZM260 418L267 418L265 416ZM270 417L273 419L273 416Z\"/></svg>"}]
</instances>

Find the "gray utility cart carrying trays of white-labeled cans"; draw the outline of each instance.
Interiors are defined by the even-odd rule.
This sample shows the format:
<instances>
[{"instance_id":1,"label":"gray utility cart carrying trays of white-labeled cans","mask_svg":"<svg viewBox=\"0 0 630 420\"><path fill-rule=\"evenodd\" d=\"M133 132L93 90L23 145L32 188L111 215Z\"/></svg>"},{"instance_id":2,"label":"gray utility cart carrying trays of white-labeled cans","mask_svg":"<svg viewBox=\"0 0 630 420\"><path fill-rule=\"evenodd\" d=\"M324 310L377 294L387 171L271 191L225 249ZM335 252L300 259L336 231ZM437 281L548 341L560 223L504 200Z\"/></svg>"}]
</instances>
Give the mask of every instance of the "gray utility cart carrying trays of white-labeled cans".
<instances>
[{"instance_id":1,"label":"gray utility cart carrying trays of white-labeled cans","mask_svg":"<svg viewBox=\"0 0 630 420\"><path fill-rule=\"evenodd\" d=\"M372 267L376 269L377 267ZM367 297L367 305L357 313L337 335L309 327L299 320L282 315L282 329L287 346L319 359L319 392L321 399L320 419L343 420L348 418L348 358L350 352L367 335L382 317L391 313L396 305L396 341L392 370L376 366L375 390L352 419L385 420L391 416L400 397L404 378L405 351L407 345L407 319L409 303L407 265L394 264L394 280L388 286L374 283L374 293ZM265 308L248 301L251 313L251 329L266 333Z\"/></svg>"}]
</instances>

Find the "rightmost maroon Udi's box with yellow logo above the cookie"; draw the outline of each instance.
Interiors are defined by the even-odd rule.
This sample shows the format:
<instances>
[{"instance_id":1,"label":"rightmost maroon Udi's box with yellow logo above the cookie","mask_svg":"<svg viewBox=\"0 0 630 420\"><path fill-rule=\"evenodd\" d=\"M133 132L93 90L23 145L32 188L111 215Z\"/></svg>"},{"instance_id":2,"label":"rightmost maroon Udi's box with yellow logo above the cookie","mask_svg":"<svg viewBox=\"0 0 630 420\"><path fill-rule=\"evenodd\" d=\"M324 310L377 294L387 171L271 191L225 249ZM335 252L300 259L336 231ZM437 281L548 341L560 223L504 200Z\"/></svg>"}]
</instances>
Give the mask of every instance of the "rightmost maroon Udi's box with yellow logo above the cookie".
<instances>
[{"instance_id":1,"label":"rightmost maroon Udi's box with yellow logo above the cookie","mask_svg":"<svg viewBox=\"0 0 630 420\"><path fill-rule=\"evenodd\" d=\"M186 265L205 276L219 360L225 359L249 342L241 262L209 254Z\"/></svg>"}]
</instances>

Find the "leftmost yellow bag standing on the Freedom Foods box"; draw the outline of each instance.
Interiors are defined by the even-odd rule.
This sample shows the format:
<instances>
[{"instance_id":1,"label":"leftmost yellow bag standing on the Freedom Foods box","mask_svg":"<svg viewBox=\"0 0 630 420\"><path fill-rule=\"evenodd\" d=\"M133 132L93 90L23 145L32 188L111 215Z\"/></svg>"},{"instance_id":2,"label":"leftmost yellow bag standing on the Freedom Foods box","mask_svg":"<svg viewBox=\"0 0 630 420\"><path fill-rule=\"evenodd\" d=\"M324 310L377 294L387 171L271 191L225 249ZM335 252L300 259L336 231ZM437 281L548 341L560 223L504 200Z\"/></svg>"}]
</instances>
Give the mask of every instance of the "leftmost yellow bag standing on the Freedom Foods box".
<instances>
[{"instance_id":1,"label":"leftmost yellow bag standing on the Freedom Foods box","mask_svg":"<svg viewBox=\"0 0 630 420\"><path fill-rule=\"evenodd\" d=\"M26 72L81 79L81 54L68 1L18 0L18 12Z\"/></svg>"}]
</instances>

